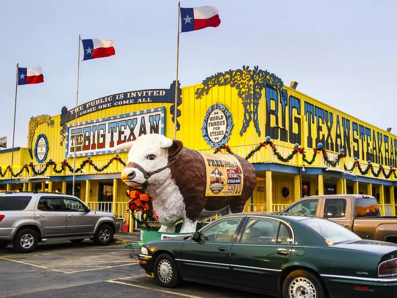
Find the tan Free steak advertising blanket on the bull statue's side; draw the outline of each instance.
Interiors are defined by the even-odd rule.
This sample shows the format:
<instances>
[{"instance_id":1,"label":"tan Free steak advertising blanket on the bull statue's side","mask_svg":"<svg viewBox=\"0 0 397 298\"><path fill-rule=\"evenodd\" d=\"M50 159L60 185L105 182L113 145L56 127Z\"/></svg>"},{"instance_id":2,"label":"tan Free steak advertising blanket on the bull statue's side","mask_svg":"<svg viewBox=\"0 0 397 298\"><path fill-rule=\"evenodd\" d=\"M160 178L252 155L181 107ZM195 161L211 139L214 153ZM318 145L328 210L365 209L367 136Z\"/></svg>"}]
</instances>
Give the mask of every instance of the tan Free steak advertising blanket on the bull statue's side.
<instances>
[{"instance_id":1,"label":"tan Free steak advertising blanket on the bull statue's side","mask_svg":"<svg viewBox=\"0 0 397 298\"><path fill-rule=\"evenodd\" d=\"M239 160L229 154L201 153L205 162L205 196L240 196L243 171Z\"/></svg>"}]
</instances>

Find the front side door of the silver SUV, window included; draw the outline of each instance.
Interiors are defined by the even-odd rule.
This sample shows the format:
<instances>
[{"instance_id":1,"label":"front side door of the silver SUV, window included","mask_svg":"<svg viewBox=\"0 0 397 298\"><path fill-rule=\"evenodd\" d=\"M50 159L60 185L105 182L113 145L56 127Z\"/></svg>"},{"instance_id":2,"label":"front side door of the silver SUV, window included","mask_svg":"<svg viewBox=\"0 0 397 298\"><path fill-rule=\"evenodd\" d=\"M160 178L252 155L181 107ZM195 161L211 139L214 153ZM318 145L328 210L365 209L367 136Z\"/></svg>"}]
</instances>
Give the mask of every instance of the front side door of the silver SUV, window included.
<instances>
[{"instance_id":1,"label":"front side door of the silver SUV, window included","mask_svg":"<svg viewBox=\"0 0 397 298\"><path fill-rule=\"evenodd\" d=\"M85 206L77 199L63 197L66 210L67 234L92 234L94 232L94 215L86 212Z\"/></svg>"}]
</instances>

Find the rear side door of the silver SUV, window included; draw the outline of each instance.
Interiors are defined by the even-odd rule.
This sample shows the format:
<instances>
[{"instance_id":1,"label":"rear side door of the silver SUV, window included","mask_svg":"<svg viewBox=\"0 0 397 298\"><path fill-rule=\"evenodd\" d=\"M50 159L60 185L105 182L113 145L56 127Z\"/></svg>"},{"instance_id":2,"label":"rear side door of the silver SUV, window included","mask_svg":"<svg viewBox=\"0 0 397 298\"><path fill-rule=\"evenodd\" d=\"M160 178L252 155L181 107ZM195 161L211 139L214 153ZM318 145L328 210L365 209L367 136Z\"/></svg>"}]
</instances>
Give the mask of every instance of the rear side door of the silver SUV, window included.
<instances>
[{"instance_id":1,"label":"rear side door of the silver SUV, window included","mask_svg":"<svg viewBox=\"0 0 397 298\"><path fill-rule=\"evenodd\" d=\"M43 237L64 236L66 233L66 213L62 208L61 197L42 196L34 211L37 225L44 231Z\"/></svg>"}]
</instances>

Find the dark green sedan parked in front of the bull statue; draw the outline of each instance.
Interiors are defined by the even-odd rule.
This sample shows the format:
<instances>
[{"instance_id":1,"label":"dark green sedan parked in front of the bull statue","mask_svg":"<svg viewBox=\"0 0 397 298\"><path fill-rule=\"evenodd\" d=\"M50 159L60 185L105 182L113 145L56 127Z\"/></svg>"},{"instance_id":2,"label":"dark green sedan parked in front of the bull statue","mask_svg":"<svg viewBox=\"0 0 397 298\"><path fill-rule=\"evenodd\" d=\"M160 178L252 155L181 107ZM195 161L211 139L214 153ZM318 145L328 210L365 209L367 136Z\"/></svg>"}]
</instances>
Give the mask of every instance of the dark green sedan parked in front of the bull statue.
<instances>
[{"instance_id":1,"label":"dark green sedan parked in front of the bull statue","mask_svg":"<svg viewBox=\"0 0 397 298\"><path fill-rule=\"evenodd\" d=\"M395 297L397 245L329 220L233 214L191 236L145 243L139 264L162 287L193 281L283 298Z\"/></svg>"}]
</instances>

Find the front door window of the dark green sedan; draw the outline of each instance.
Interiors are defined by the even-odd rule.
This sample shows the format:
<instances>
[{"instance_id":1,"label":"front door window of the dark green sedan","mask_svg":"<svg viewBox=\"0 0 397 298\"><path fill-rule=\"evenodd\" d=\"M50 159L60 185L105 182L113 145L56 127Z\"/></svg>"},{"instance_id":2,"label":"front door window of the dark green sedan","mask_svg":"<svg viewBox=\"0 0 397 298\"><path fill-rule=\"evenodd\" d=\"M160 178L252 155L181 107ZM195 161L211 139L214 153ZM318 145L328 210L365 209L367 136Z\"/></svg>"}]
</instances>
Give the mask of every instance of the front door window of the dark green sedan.
<instances>
[{"instance_id":1,"label":"front door window of the dark green sedan","mask_svg":"<svg viewBox=\"0 0 397 298\"><path fill-rule=\"evenodd\" d=\"M219 220L200 232L200 240L208 242L231 242L241 218Z\"/></svg>"}]
</instances>

